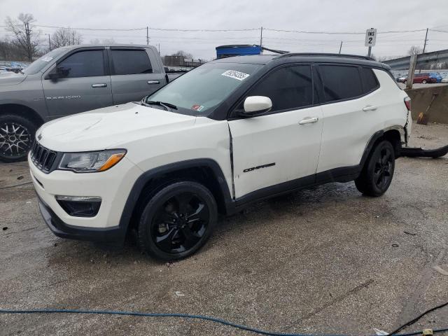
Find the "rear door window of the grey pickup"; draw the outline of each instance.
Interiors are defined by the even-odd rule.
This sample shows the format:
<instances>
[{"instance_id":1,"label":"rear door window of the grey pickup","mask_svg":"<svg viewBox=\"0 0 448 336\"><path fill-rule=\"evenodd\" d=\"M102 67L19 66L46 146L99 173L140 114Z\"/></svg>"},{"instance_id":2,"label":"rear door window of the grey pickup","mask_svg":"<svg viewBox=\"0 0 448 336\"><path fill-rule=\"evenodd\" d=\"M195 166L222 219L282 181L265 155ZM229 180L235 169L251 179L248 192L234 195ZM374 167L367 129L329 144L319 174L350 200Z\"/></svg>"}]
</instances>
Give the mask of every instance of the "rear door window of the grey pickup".
<instances>
[{"instance_id":1,"label":"rear door window of the grey pickup","mask_svg":"<svg viewBox=\"0 0 448 336\"><path fill-rule=\"evenodd\" d=\"M145 50L111 50L113 74L152 73L153 67Z\"/></svg>"}]
</instances>

